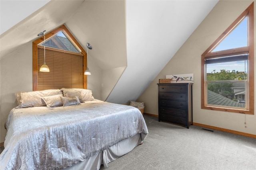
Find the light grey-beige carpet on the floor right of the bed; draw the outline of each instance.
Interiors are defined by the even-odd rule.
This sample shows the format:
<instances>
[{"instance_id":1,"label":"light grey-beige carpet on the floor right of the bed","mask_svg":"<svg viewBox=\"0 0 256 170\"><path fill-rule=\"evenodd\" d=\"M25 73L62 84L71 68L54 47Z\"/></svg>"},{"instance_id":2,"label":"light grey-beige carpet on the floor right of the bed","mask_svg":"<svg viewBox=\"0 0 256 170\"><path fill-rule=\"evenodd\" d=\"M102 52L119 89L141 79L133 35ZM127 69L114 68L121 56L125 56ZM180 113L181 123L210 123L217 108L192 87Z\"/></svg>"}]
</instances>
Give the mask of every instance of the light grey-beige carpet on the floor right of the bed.
<instances>
[{"instance_id":1,"label":"light grey-beige carpet on the floor right of the bed","mask_svg":"<svg viewBox=\"0 0 256 170\"><path fill-rule=\"evenodd\" d=\"M256 170L256 139L144 117L149 135L143 145L101 170Z\"/></svg>"}]
</instances>

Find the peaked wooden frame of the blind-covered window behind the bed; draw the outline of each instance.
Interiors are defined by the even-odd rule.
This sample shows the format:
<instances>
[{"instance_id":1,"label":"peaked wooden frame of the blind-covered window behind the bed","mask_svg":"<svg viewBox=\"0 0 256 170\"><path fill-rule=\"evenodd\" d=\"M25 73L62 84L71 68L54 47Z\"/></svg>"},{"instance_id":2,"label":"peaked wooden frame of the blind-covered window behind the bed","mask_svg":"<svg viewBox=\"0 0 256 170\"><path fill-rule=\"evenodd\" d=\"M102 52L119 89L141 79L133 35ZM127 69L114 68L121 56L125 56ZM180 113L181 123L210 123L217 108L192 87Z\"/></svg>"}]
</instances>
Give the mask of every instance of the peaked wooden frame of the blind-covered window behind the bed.
<instances>
[{"instance_id":1,"label":"peaked wooden frame of the blind-covered window behind the bed","mask_svg":"<svg viewBox=\"0 0 256 170\"><path fill-rule=\"evenodd\" d=\"M60 33L61 31L65 32L71 39L72 41L75 43L75 45L81 50L84 60L83 63L83 73L85 71L85 68L87 68L87 53L86 51L84 51L84 49L82 48L82 46L78 43L78 41L76 41L76 39L74 38L74 36L70 33L70 31L67 29L67 27L65 25L62 25L56 29L54 29L53 31L45 34L45 39L49 39L51 37L53 37L54 35ZM39 44L42 43L44 41L44 36L38 38L37 40L33 41L32 43L32 52L33 52L33 91L37 91L38 90L38 46L40 46ZM54 49L55 50L55 49ZM64 51L64 50L60 50L60 49L56 49L56 51ZM84 75L84 74L83 74ZM83 76L83 88L87 89L87 76L84 75Z\"/></svg>"}]
</instances>

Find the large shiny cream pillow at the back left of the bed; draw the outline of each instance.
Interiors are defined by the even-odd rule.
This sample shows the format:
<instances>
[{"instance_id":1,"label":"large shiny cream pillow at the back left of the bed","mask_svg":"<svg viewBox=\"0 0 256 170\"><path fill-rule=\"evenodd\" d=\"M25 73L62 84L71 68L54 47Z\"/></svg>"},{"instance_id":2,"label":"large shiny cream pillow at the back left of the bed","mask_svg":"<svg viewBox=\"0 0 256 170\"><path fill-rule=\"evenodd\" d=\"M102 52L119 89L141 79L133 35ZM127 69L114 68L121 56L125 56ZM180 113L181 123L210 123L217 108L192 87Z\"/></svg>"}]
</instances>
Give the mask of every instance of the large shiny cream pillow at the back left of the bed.
<instances>
[{"instance_id":1,"label":"large shiny cream pillow at the back left of the bed","mask_svg":"<svg viewBox=\"0 0 256 170\"><path fill-rule=\"evenodd\" d=\"M46 106L43 97L58 95L62 92L59 89L49 89L32 92L17 92L15 94L19 106L17 108L34 107L34 106Z\"/></svg>"}]
</instances>

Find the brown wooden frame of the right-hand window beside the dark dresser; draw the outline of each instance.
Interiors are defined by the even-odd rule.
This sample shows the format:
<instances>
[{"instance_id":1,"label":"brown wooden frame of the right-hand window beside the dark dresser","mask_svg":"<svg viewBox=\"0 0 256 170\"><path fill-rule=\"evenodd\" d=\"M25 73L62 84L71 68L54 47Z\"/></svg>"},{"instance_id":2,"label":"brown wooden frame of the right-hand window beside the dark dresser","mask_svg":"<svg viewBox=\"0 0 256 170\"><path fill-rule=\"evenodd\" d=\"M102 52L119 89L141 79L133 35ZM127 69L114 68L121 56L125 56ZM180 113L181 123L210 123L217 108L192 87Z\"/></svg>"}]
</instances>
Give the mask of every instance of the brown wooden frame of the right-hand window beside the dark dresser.
<instances>
[{"instance_id":1,"label":"brown wooden frame of the right-hand window beside the dark dresser","mask_svg":"<svg viewBox=\"0 0 256 170\"><path fill-rule=\"evenodd\" d=\"M248 46L223 51L212 51L225 37L235 28L240 21L248 16ZM248 109L234 109L227 107L207 106L206 105L206 75L205 75L205 59L218 58L228 55L240 55L248 53L248 83L249 83L249 103ZM244 113L254 115L254 2L210 45L210 47L202 54L201 57L201 108L216 111L227 111L234 113Z\"/></svg>"}]
</instances>

